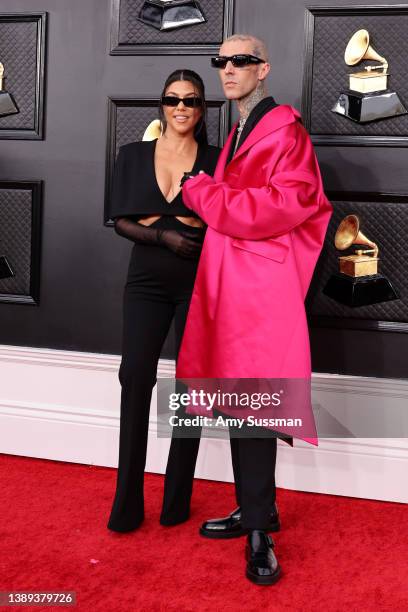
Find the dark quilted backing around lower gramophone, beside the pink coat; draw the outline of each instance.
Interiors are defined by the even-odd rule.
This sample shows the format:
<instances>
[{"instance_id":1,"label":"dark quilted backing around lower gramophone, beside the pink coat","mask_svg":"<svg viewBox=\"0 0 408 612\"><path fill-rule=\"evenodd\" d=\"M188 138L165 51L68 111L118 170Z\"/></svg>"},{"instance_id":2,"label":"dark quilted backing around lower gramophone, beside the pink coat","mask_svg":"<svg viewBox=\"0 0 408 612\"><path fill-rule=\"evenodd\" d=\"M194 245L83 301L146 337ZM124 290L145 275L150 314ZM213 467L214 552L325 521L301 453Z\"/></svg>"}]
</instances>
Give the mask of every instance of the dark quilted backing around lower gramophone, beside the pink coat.
<instances>
[{"instance_id":1,"label":"dark quilted backing around lower gramophone, beside the pink coat","mask_svg":"<svg viewBox=\"0 0 408 612\"><path fill-rule=\"evenodd\" d=\"M408 276L406 272L408 196L406 202L402 203L392 201L334 201L332 203L334 212L306 301L308 314L372 321L408 322ZM339 304L322 293L329 277L338 272L338 257L349 255L356 248L338 251L334 246L334 235L340 221L350 214L360 217L360 230L378 245L380 259L378 272L391 281L401 299L351 308Z\"/></svg>"}]
</instances>

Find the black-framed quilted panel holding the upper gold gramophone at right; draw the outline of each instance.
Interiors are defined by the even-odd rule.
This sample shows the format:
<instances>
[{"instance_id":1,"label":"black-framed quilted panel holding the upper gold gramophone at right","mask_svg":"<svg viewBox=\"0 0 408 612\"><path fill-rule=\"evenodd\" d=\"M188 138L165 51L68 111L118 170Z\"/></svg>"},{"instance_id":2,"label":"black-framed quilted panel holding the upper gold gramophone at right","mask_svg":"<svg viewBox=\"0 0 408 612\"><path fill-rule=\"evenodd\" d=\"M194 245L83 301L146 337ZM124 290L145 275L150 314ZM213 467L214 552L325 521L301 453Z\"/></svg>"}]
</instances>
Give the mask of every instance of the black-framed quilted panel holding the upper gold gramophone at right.
<instances>
[{"instance_id":1,"label":"black-framed quilted panel holding the upper gold gramophone at right","mask_svg":"<svg viewBox=\"0 0 408 612\"><path fill-rule=\"evenodd\" d=\"M302 113L314 144L408 146L407 30L407 5L306 10Z\"/></svg>"}]
</instances>

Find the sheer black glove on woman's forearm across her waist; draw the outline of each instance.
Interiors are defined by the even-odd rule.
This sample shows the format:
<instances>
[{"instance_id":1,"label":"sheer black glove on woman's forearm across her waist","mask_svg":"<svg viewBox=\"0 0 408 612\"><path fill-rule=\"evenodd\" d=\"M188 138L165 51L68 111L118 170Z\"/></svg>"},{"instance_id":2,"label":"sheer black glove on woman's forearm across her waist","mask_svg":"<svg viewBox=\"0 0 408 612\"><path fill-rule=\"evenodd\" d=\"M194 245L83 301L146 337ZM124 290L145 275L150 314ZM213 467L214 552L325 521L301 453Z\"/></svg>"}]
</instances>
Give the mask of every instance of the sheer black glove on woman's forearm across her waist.
<instances>
[{"instance_id":1,"label":"sheer black glove on woman's forearm across her waist","mask_svg":"<svg viewBox=\"0 0 408 612\"><path fill-rule=\"evenodd\" d=\"M197 235L188 230L149 227L126 217L115 219L115 231L132 242L164 245L177 255L187 258L199 256L204 239L204 232Z\"/></svg>"}]
</instances>

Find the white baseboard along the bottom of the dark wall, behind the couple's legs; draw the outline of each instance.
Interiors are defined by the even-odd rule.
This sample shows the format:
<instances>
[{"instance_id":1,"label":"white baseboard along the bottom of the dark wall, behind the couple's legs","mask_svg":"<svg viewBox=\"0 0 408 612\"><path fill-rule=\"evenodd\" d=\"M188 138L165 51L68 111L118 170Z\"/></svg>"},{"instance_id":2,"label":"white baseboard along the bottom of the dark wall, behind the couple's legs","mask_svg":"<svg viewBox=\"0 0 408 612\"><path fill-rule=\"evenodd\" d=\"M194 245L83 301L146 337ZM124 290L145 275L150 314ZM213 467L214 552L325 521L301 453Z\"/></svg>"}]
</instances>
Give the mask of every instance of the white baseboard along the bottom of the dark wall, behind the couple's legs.
<instances>
[{"instance_id":1,"label":"white baseboard along the bottom of the dark wall, behind the couple's legs","mask_svg":"<svg viewBox=\"0 0 408 612\"><path fill-rule=\"evenodd\" d=\"M117 464L119 357L0 345L0 452ZM161 360L158 377L174 376ZM408 380L314 374L313 402L330 406L340 426L366 403L375 418L408 406ZM169 440L158 438L152 400L146 470L164 473ZM299 491L408 502L408 440L332 438L317 448L279 443L277 484ZM227 440L203 439L196 477L232 482Z\"/></svg>"}]
</instances>

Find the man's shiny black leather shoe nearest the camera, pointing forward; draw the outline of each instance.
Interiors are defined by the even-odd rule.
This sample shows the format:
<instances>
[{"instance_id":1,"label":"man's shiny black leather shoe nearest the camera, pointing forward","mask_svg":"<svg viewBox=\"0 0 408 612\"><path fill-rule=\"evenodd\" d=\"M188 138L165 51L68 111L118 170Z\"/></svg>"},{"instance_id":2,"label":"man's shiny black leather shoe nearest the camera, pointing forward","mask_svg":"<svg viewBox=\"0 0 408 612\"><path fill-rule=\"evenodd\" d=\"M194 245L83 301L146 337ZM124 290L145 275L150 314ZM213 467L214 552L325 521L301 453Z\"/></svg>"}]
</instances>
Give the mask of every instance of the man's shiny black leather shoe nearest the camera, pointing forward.
<instances>
[{"instance_id":1,"label":"man's shiny black leather shoe nearest the camera, pointing forward","mask_svg":"<svg viewBox=\"0 0 408 612\"><path fill-rule=\"evenodd\" d=\"M273 540L265 531L249 532L245 557L246 577L255 584L269 585L277 582L281 568L273 552Z\"/></svg>"}]
</instances>

